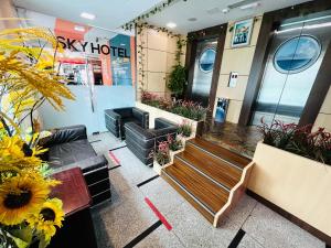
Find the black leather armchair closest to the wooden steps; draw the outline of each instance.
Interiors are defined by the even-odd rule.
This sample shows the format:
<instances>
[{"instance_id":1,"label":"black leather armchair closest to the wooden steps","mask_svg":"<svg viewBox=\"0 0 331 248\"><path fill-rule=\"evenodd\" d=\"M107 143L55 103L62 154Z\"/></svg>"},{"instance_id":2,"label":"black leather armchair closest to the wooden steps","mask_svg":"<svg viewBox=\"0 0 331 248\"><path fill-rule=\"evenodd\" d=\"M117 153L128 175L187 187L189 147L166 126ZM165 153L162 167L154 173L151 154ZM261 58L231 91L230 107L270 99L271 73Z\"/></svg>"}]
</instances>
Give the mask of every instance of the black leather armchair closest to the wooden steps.
<instances>
[{"instance_id":1,"label":"black leather armchair closest to the wooden steps","mask_svg":"<svg viewBox=\"0 0 331 248\"><path fill-rule=\"evenodd\" d=\"M145 164L151 164L151 152L160 141L167 140L168 134L175 137L178 126L164 118L156 118L154 129L145 129L135 122L125 125L126 143L135 155Z\"/></svg>"}]
</instances>

